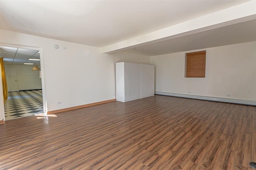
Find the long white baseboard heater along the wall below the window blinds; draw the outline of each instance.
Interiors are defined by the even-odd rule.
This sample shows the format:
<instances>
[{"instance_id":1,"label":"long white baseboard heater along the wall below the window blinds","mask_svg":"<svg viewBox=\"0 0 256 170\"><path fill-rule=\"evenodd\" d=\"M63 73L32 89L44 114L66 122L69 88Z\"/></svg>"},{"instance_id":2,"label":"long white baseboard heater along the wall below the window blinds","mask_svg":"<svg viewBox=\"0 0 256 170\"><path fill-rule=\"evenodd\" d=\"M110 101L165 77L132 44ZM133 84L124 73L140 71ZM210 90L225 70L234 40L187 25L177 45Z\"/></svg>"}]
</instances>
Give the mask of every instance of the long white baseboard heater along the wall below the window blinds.
<instances>
[{"instance_id":1,"label":"long white baseboard heater along the wall below the window blinds","mask_svg":"<svg viewBox=\"0 0 256 170\"><path fill-rule=\"evenodd\" d=\"M218 101L224 103L235 103L235 104L242 104L242 105L252 105L256 106L256 101L254 100L244 100L244 99L229 99L223 97L210 97L210 96L198 96L198 95L186 95L180 93L168 93L168 92L161 92L155 91L156 95L165 95L165 96L174 96L174 97L184 97L189 99L199 99L199 100L208 100L208 101Z\"/></svg>"}]
</instances>

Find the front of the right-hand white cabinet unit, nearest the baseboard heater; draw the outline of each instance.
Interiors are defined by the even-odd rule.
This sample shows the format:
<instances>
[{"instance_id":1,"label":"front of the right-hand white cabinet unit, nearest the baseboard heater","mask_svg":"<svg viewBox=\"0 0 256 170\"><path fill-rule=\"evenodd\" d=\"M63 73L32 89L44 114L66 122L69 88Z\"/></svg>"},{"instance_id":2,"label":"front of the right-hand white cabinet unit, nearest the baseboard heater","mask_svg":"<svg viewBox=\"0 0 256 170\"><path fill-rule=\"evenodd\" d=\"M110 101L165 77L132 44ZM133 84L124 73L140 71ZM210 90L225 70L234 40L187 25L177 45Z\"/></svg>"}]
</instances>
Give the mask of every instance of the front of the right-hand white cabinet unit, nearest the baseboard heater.
<instances>
[{"instance_id":1,"label":"front of the right-hand white cabinet unit, nearest the baseboard heater","mask_svg":"<svg viewBox=\"0 0 256 170\"><path fill-rule=\"evenodd\" d=\"M141 65L141 97L154 95L154 65Z\"/></svg>"}]
</instances>

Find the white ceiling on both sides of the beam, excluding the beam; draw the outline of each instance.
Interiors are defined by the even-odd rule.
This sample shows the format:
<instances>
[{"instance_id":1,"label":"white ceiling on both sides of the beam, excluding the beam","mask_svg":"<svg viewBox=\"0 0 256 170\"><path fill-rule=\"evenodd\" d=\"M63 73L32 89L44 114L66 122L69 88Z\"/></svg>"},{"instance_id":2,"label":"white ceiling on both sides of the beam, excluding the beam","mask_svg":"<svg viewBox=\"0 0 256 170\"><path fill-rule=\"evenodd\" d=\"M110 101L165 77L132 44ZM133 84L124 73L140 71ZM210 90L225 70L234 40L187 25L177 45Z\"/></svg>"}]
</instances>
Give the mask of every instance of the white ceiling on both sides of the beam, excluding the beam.
<instances>
[{"instance_id":1,"label":"white ceiling on both sides of the beam, excluding the beam","mask_svg":"<svg viewBox=\"0 0 256 170\"><path fill-rule=\"evenodd\" d=\"M0 29L106 47L249 1L0 0ZM240 22L122 50L152 56L256 41L255 23Z\"/></svg>"}]
</instances>

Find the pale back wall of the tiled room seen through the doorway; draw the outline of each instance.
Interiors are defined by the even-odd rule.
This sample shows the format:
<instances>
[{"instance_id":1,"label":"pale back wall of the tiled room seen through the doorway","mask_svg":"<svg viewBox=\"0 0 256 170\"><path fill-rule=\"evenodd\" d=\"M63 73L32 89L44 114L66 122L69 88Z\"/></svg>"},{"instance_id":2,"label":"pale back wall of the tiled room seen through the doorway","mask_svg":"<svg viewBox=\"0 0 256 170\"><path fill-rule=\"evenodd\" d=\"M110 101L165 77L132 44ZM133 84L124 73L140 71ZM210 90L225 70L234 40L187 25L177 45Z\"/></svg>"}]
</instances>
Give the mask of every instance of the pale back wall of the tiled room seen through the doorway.
<instances>
[{"instance_id":1,"label":"pale back wall of the tiled room seen through the doorway","mask_svg":"<svg viewBox=\"0 0 256 170\"><path fill-rule=\"evenodd\" d=\"M31 65L5 65L6 67L16 67L18 90L42 89L42 81L39 71L32 71ZM8 69L6 69L6 74ZM7 78L7 77L6 77ZM12 82L8 82L12 83ZM15 82L13 82L15 83Z\"/></svg>"}]
</instances>

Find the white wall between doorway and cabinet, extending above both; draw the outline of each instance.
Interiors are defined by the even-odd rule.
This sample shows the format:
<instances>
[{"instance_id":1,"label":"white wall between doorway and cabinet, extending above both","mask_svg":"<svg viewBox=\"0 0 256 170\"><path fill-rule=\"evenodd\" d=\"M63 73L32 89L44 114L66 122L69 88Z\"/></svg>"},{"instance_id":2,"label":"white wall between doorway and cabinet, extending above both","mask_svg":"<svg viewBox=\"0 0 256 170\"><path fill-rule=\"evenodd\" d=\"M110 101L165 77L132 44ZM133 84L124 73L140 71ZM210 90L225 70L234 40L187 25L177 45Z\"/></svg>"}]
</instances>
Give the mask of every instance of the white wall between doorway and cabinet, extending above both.
<instances>
[{"instance_id":1,"label":"white wall between doorway and cabinet, extending above both","mask_svg":"<svg viewBox=\"0 0 256 170\"><path fill-rule=\"evenodd\" d=\"M0 30L0 38L2 45L42 49L40 55L44 66L41 65L41 70L45 77L48 111L115 99L115 63L150 63L150 57L144 55L102 54L98 47L6 30ZM55 49L54 44L58 44L59 49ZM62 104L58 105L58 102Z\"/></svg>"}]
</instances>

